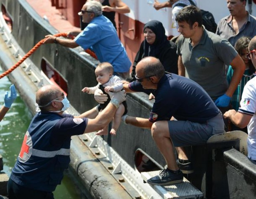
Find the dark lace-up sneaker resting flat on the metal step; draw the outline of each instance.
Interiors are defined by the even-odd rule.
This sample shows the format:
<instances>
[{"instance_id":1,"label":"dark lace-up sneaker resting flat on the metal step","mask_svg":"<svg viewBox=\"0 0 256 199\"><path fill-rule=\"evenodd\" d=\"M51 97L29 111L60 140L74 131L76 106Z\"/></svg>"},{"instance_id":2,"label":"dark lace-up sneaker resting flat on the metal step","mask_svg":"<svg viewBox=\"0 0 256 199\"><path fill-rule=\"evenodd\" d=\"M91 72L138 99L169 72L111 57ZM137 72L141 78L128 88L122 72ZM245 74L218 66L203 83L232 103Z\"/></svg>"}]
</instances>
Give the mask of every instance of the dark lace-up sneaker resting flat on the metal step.
<instances>
[{"instance_id":1,"label":"dark lace-up sneaker resting flat on the metal step","mask_svg":"<svg viewBox=\"0 0 256 199\"><path fill-rule=\"evenodd\" d=\"M169 169L163 169L159 175L147 180L147 183L153 185L167 185L181 183L183 181L183 173L179 170L177 173L172 173Z\"/></svg>"}]
</instances>

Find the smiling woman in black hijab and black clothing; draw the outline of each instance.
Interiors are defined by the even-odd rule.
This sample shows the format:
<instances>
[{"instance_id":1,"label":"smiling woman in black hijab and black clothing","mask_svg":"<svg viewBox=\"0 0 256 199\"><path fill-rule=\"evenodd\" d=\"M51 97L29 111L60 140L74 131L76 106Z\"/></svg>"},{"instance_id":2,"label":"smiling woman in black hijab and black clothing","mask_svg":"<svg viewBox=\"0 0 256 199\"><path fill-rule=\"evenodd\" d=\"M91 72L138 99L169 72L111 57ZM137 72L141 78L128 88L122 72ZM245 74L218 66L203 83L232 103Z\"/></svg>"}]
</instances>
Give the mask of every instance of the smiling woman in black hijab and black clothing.
<instances>
[{"instance_id":1,"label":"smiling woman in black hijab and black clothing","mask_svg":"<svg viewBox=\"0 0 256 199\"><path fill-rule=\"evenodd\" d=\"M141 43L132 66L131 80L135 81L135 68L144 57L153 56L163 64L165 71L178 74L178 55L175 43L167 40L165 29L160 21L152 20L144 26L145 40Z\"/></svg>"}]
</instances>

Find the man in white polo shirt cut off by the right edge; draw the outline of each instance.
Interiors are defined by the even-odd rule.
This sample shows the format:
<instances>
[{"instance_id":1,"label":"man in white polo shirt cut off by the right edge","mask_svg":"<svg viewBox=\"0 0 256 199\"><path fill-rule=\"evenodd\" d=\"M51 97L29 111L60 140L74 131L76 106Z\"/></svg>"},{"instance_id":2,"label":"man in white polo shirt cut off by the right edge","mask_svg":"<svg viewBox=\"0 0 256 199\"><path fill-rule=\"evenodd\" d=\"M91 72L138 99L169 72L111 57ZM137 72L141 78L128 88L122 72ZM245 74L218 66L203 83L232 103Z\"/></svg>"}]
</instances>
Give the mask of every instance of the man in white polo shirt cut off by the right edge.
<instances>
[{"instance_id":1,"label":"man in white polo shirt cut off by the right edge","mask_svg":"<svg viewBox=\"0 0 256 199\"><path fill-rule=\"evenodd\" d=\"M252 60L252 63L256 69L256 37L252 38L248 46L249 53L248 58ZM256 78L252 78L248 81L242 93L240 101L240 108L238 111L229 110L224 113L224 118L228 118L231 122L239 128L245 128L248 130L248 158L256 164Z\"/></svg>"}]
</instances>

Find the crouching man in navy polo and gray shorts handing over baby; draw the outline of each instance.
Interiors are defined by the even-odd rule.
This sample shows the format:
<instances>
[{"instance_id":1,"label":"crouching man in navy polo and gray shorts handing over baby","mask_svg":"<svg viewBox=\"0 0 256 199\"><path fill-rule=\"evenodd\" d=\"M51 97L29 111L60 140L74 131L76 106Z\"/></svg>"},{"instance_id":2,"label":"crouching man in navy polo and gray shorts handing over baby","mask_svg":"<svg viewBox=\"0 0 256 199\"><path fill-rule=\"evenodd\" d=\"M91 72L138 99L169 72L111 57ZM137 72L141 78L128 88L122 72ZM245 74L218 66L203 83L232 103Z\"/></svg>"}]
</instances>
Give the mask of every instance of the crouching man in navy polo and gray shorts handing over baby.
<instances>
[{"instance_id":1,"label":"crouching man in navy polo and gray shorts handing over baby","mask_svg":"<svg viewBox=\"0 0 256 199\"><path fill-rule=\"evenodd\" d=\"M212 135L224 133L222 114L199 84L176 74L165 74L163 65L155 57L146 57L137 64L136 79L124 84L125 91L151 89L155 103L149 119L126 115L123 120L127 124L151 129L167 163L167 168L147 182L153 185L180 183L183 173L193 172L182 147L202 145ZM172 117L177 121L170 120ZM177 162L173 145L178 152Z\"/></svg>"}]
</instances>

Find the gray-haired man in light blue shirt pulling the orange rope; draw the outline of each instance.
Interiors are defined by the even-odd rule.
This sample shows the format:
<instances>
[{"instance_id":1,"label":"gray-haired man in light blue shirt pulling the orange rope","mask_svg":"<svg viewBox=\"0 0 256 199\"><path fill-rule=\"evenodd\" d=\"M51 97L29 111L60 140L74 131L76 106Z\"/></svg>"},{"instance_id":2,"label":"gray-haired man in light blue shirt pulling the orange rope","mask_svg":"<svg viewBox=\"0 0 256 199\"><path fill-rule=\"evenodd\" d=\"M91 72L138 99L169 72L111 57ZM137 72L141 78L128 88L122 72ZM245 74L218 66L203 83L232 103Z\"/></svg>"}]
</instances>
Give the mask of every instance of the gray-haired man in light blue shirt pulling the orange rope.
<instances>
[{"instance_id":1,"label":"gray-haired man in light blue shirt pulling the orange rope","mask_svg":"<svg viewBox=\"0 0 256 199\"><path fill-rule=\"evenodd\" d=\"M97 1L86 2L81 12L84 23L88 26L80 32L69 32L68 36L76 36L74 40L56 38L47 35L45 44L55 43L68 48L81 46L84 50L91 49L100 62L109 62L114 67L114 75L129 77L131 61L121 44L116 29L109 19L102 15L102 5Z\"/></svg>"}]
</instances>

